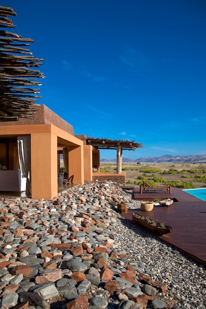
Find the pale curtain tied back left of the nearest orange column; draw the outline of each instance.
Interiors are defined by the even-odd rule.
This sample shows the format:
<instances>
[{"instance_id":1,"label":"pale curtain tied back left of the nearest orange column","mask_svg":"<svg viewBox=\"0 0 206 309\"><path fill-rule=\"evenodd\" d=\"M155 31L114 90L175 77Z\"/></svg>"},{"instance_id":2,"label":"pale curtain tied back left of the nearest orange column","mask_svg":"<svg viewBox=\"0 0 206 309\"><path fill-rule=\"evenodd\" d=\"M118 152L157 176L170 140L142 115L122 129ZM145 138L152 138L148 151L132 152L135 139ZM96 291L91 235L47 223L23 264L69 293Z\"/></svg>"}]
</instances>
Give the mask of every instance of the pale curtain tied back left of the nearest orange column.
<instances>
[{"instance_id":1,"label":"pale curtain tied back left of the nearest orange column","mask_svg":"<svg viewBox=\"0 0 206 309\"><path fill-rule=\"evenodd\" d=\"M31 141L30 136L18 136L19 166L23 177L27 179L26 195L30 194Z\"/></svg>"}]
</instances>

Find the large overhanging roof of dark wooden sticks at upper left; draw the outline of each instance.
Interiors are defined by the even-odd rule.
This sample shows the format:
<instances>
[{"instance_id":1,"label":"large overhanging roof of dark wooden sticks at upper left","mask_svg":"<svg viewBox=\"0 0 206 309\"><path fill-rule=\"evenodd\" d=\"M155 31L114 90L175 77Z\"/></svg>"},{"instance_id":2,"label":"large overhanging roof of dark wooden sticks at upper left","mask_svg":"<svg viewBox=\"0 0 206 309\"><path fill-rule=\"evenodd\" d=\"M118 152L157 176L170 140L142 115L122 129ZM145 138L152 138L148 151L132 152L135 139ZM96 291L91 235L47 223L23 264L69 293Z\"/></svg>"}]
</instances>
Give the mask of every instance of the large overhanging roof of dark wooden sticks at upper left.
<instances>
[{"instance_id":1,"label":"large overhanging roof of dark wooden sticks at upper left","mask_svg":"<svg viewBox=\"0 0 206 309\"><path fill-rule=\"evenodd\" d=\"M8 16L16 13L11 7L0 6L0 27L14 28ZM15 42L14 42L15 41ZM19 117L34 118L39 109L35 104L41 83L37 78L44 78L37 70L43 59L33 56L27 46L33 39L0 30L0 121L14 121Z\"/></svg>"}]
</instances>

